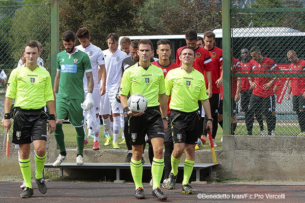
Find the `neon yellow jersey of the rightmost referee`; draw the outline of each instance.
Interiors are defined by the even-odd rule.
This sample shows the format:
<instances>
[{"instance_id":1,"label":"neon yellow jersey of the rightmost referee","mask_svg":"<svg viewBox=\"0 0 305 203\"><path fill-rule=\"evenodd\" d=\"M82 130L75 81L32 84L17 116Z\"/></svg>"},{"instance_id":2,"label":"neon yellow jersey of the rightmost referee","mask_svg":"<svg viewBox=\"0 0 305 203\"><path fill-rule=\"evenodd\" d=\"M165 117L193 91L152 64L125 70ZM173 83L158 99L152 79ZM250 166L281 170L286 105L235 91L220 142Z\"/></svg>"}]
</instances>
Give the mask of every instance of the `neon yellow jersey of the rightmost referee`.
<instances>
[{"instance_id":1,"label":"neon yellow jersey of the rightmost referee","mask_svg":"<svg viewBox=\"0 0 305 203\"><path fill-rule=\"evenodd\" d=\"M193 112L198 109L198 100L208 99L204 76L193 68L191 73L181 67L170 70L165 78L166 95L170 95L169 108Z\"/></svg>"}]
</instances>

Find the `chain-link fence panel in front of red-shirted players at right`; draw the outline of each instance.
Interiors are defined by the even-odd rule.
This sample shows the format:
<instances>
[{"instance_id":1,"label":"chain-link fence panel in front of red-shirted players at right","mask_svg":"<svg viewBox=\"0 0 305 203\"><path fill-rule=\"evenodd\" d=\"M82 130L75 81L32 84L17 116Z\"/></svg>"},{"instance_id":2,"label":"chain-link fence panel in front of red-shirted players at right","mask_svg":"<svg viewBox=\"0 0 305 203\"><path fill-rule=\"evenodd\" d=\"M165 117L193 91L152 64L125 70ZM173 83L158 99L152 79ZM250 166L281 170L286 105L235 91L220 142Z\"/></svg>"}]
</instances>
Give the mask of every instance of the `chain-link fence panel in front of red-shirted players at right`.
<instances>
[{"instance_id":1,"label":"chain-link fence panel in front of red-shirted players at right","mask_svg":"<svg viewBox=\"0 0 305 203\"><path fill-rule=\"evenodd\" d=\"M232 132L305 135L305 1L231 3Z\"/></svg>"}]
</instances>

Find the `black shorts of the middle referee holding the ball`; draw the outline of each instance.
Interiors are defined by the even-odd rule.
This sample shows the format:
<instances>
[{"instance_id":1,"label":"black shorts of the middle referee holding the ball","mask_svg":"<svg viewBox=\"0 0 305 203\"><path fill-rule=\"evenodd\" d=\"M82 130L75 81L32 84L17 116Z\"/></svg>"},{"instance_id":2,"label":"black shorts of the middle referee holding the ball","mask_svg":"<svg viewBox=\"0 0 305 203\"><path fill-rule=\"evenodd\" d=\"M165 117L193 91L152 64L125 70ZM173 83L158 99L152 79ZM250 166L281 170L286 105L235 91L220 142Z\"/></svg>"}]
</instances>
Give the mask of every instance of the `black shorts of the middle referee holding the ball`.
<instances>
[{"instance_id":1,"label":"black shorts of the middle referee holding the ball","mask_svg":"<svg viewBox=\"0 0 305 203\"><path fill-rule=\"evenodd\" d=\"M128 130L131 145L143 145L146 134L148 141L153 138L164 139L164 126L159 107L148 107L142 116L130 116Z\"/></svg>"}]
</instances>

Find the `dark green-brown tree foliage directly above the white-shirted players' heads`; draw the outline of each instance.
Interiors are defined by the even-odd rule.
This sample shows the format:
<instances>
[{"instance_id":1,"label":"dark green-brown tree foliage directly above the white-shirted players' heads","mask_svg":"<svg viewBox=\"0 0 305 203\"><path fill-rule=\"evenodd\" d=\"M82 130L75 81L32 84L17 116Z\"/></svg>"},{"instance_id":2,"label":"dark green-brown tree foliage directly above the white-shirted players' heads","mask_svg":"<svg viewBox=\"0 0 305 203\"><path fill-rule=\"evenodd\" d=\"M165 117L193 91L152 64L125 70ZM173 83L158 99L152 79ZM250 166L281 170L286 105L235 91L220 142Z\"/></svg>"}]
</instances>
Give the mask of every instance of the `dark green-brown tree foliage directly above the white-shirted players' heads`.
<instances>
[{"instance_id":1,"label":"dark green-brown tree foliage directly above the white-shirted players' heads","mask_svg":"<svg viewBox=\"0 0 305 203\"><path fill-rule=\"evenodd\" d=\"M60 35L65 30L76 32L79 27L87 27L92 42L106 49L108 33L116 32L118 36L137 33L135 16L141 5L140 0L66 0L60 4Z\"/></svg>"}]
</instances>

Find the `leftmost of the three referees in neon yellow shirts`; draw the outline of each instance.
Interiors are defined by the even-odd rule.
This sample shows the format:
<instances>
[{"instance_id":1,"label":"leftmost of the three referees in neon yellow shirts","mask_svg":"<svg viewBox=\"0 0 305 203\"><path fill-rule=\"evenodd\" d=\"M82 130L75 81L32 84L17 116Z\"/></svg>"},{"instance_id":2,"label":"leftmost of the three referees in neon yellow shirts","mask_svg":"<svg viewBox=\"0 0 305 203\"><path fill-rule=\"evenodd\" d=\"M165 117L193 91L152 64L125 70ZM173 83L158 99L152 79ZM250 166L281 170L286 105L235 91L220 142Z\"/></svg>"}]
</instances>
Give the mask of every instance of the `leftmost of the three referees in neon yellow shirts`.
<instances>
[{"instance_id":1,"label":"leftmost of the three referees in neon yellow shirts","mask_svg":"<svg viewBox=\"0 0 305 203\"><path fill-rule=\"evenodd\" d=\"M48 130L55 130L55 101L49 72L39 64L40 56L37 42L31 41L24 48L25 64L11 72L4 101L4 119L2 126L11 128L10 110L15 99L13 143L19 144L19 165L25 182L25 188L20 194L22 198L31 197L31 163L29 161L30 144L33 141L36 174L35 181L41 193L47 192L42 172L46 161L47 119ZM44 111L47 106L50 116Z\"/></svg>"}]
</instances>

